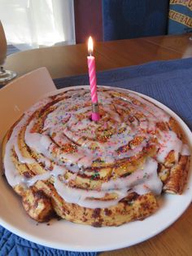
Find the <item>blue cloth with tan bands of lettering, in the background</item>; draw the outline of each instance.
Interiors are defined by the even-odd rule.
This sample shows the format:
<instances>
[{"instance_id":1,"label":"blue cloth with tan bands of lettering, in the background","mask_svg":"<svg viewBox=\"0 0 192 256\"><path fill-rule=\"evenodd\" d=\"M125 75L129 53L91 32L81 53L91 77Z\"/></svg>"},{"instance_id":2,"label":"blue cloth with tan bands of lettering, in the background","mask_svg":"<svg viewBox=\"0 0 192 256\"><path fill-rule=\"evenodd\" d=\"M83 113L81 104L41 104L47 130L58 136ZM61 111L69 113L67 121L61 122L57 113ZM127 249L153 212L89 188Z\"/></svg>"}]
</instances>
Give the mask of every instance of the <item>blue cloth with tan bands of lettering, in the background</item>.
<instances>
[{"instance_id":1,"label":"blue cloth with tan bands of lettering, in the background","mask_svg":"<svg viewBox=\"0 0 192 256\"><path fill-rule=\"evenodd\" d=\"M192 32L192 2L170 1L168 33Z\"/></svg>"}]
</instances>

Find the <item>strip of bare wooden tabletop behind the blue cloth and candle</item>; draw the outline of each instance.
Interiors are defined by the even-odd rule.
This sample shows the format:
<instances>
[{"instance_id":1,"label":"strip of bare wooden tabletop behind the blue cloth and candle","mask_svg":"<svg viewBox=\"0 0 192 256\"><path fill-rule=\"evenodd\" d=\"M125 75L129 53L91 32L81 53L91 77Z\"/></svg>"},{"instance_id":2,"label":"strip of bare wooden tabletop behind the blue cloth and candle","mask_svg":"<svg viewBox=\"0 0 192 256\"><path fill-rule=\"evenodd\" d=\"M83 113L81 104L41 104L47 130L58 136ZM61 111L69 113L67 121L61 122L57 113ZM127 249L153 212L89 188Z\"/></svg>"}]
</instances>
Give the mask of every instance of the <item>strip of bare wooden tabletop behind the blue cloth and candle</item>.
<instances>
[{"instance_id":1,"label":"strip of bare wooden tabletop behind the blue cloth and candle","mask_svg":"<svg viewBox=\"0 0 192 256\"><path fill-rule=\"evenodd\" d=\"M97 70L137 65L152 60L172 60L192 56L191 34L155 38L137 38L96 42L94 56ZM19 75L45 66L51 77L68 77L87 73L87 46L52 46L9 55L5 68Z\"/></svg>"}]
</instances>

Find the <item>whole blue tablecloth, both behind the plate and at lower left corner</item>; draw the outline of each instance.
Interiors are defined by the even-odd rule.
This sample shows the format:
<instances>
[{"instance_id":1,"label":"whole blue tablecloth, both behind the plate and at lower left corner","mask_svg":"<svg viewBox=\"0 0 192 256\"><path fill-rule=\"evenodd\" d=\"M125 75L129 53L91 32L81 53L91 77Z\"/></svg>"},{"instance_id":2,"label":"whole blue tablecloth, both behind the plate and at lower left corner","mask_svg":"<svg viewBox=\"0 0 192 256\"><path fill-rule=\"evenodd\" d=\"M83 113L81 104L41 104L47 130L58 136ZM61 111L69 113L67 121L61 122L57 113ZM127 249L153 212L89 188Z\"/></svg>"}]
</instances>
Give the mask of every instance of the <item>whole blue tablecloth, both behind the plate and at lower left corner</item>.
<instances>
[{"instance_id":1,"label":"whole blue tablecloth, both behind the plate and at lower left corner","mask_svg":"<svg viewBox=\"0 0 192 256\"><path fill-rule=\"evenodd\" d=\"M97 73L98 84L119 86L149 95L171 108L192 129L192 58L157 61ZM88 75L55 79L57 88L87 85ZM49 249L0 227L0 255L96 255Z\"/></svg>"}]
</instances>

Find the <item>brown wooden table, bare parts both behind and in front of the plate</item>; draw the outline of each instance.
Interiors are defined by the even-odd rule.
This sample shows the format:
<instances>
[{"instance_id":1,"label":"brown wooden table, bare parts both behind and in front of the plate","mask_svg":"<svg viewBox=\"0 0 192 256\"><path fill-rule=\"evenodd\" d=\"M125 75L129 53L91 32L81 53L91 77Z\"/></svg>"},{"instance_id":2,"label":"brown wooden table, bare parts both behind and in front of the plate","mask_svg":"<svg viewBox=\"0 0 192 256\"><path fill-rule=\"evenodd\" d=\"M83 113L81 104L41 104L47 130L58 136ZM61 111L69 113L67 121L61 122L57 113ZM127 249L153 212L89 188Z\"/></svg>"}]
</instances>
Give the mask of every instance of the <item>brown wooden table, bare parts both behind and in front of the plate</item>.
<instances>
[{"instance_id":1,"label":"brown wooden table, bare parts both behind and in front of the plate","mask_svg":"<svg viewBox=\"0 0 192 256\"><path fill-rule=\"evenodd\" d=\"M97 42L94 47L97 70L192 57L190 36L192 34ZM87 72L86 55L85 44L47 47L8 56L6 68L21 75L46 66L52 77L67 77ZM192 205L176 223L150 240L100 255L192 255Z\"/></svg>"}]
</instances>

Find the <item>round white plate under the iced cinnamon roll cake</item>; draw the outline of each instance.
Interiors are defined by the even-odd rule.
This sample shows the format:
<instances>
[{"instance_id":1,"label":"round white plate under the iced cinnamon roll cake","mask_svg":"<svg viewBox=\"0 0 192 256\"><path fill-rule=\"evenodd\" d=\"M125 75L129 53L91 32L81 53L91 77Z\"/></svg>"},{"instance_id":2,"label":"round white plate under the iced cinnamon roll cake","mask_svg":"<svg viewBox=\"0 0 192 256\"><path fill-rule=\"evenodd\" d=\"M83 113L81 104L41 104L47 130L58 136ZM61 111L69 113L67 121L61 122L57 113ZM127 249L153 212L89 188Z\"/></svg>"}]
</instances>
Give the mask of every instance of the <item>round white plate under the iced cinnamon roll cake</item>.
<instances>
[{"instance_id":1,"label":"round white plate under the iced cinnamon roll cake","mask_svg":"<svg viewBox=\"0 0 192 256\"><path fill-rule=\"evenodd\" d=\"M64 90L67 89L65 88ZM163 108L180 123L188 138L191 149L192 135L190 129L181 118L155 99L151 99L145 95L142 95L142 97L149 99L160 108ZM190 166L191 170L192 166ZM65 220L54 220L48 226L46 223L37 224L31 218L28 218L21 205L20 198L7 185L6 179L0 177L0 224L28 241L55 249L72 251L120 249L146 241L159 232L162 232L184 213L190 205L191 200L192 175L190 174L185 192L181 196L162 196L159 201L159 210L143 221L127 223L120 227L89 227L69 223Z\"/></svg>"}]
</instances>

